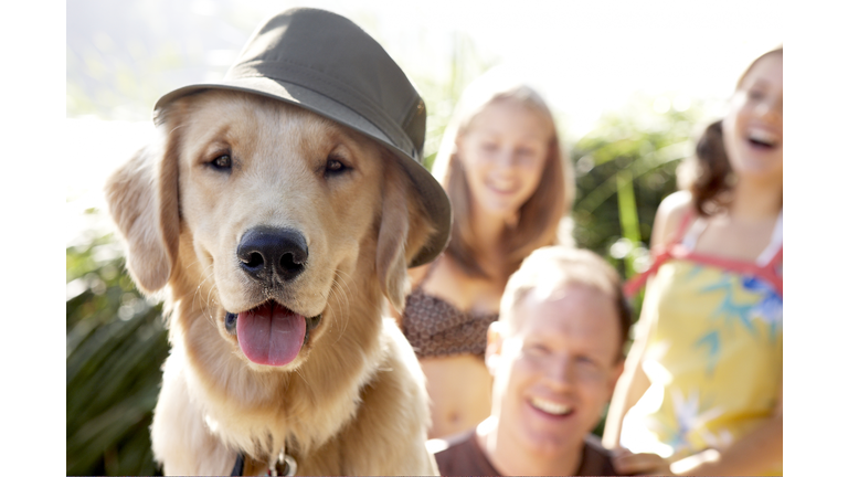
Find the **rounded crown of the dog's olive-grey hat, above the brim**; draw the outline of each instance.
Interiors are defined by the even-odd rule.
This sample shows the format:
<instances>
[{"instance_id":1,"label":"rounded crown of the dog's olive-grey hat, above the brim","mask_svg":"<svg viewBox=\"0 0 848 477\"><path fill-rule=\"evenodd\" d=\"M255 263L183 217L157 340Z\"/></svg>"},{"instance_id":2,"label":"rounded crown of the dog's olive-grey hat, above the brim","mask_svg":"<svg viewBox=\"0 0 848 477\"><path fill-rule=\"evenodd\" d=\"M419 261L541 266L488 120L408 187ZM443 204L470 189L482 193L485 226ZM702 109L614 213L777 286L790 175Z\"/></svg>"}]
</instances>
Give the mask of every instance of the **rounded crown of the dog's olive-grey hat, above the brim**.
<instances>
[{"instance_id":1,"label":"rounded crown of the dog's olive-grey hat, above the brim","mask_svg":"<svg viewBox=\"0 0 848 477\"><path fill-rule=\"evenodd\" d=\"M247 41L225 81L268 77L356 110L421 161L426 108L383 47L344 17L298 8L268 19Z\"/></svg>"}]
</instances>

